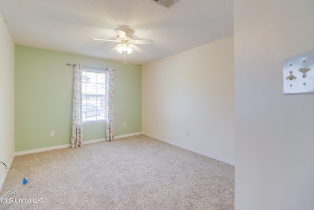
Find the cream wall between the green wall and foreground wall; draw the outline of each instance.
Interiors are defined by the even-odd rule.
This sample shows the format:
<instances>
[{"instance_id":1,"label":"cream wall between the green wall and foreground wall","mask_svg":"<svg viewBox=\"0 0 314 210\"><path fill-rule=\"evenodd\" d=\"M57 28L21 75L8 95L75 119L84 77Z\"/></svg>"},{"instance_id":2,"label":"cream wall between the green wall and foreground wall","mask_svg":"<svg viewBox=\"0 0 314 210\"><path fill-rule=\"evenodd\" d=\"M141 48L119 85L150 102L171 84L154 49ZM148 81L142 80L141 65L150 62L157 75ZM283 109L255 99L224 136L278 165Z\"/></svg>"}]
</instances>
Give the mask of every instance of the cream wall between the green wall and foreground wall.
<instances>
[{"instance_id":1,"label":"cream wall between the green wall and foreground wall","mask_svg":"<svg viewBox=\"0 0 314 210\"><path fill-rule=\"evenodd\" d=\"M233 36L142 65L142 132L231 164L234 100Z\"/></svg>"}]
</instances>

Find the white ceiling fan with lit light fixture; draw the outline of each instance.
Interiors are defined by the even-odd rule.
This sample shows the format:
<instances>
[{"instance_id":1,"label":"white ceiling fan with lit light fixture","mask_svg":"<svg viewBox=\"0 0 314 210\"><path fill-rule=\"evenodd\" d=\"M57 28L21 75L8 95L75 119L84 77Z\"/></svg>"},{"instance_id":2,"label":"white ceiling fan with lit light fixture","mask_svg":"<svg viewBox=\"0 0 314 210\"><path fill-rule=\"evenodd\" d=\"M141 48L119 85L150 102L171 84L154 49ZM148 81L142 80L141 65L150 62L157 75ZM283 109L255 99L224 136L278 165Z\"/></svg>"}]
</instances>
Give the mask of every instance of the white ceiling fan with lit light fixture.
<instances>
[{"instance_id":1,"label":"white ceiling fan with lit light fixture","mask_svg":"<svg viewBox=\"0 0 314 210\"><path fill-rule=\"evenodd\" d=\"M121 44L118 44L115 46L111 51L117 50L119 53L122 52L128 52L131 53L133 50L135 50L138 53L143 52L139 47L135 46L134 44L153 44L154 41L151 39L133 39L131 35L128 34L128 31L124 30L117 30L118 36L116 40L113 39L99 39L99 38L93 38L94 40L100 40L100 41L111 41L111 42L121 42Z\"/></svg>"}]
</instances>

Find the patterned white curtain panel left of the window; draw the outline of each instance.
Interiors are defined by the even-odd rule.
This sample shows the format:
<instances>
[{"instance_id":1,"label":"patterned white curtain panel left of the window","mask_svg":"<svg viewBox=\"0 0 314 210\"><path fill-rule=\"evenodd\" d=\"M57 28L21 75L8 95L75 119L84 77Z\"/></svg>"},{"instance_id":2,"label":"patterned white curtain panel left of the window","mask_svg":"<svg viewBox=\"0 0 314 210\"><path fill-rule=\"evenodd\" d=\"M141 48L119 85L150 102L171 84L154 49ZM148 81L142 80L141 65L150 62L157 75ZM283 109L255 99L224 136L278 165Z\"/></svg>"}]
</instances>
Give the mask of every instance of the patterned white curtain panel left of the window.
<instances>
[{"instance_id":1,"label":"patterned white curtain panel left of the window","mask_svg":"<svg viewBox=\"0 0 314 210\"><path fill-rule=\"evenodd\" d=\"M71 147L83 146L83 119L82 119L82 67L75 64L73 67L73 117Z\"/></svg>"}]
</instances>

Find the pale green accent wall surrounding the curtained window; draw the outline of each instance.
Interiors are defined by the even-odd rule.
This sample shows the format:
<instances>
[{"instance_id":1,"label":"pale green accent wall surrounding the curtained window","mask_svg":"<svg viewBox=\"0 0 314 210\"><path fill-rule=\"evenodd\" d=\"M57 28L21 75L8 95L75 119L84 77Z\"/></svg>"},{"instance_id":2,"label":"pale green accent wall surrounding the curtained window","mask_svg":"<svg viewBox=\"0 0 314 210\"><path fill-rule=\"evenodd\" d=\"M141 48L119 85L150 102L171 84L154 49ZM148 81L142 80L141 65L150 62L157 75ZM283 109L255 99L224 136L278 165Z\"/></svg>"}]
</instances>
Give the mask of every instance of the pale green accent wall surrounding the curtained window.
<instances>
[{"instance_id":1,"label":"pale green accent wall surrounding the curtained window","mask_svg":"<svg viewBox=\"0 0 314 210\"><path fill-rule=\"evenodd\" d=\"M70 143L73 67L66 63L114 68L115 134L141 131L141 65L15 45L15 151ZM84 141L105 138L105 124L83 131Z\"/></svg>"}]
</instances>

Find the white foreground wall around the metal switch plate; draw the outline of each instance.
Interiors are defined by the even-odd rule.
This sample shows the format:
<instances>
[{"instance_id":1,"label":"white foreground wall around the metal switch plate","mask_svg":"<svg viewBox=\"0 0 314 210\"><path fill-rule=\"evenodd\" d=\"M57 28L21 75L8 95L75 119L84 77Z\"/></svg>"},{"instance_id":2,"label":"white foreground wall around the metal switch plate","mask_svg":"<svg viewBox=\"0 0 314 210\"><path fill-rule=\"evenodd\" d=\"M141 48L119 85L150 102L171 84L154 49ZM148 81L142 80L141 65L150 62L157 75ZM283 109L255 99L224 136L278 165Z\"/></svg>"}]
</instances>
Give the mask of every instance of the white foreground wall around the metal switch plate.
<instances>
[{"instance_id":1,"label":"white foreground wall around the metal switch plate","mask_svg":"<svg viewBox=\"0 0 314 210\"><path fill-rule=\"evenodd\" d=\"M283 94L283 60L314 49L314 1L234 6L235 210L313 210L314 95Z\"/></svg>"}]
</instances>

